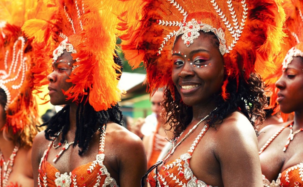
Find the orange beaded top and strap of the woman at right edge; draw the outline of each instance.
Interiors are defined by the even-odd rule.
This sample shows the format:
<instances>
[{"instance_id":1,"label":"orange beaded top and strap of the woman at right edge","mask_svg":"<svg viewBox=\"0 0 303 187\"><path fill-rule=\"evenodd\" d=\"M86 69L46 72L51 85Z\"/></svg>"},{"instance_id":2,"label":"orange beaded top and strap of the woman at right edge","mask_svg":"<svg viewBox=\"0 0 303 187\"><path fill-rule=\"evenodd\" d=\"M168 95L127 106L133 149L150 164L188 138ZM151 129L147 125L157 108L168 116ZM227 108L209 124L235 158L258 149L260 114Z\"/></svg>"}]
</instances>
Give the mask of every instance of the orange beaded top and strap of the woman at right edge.
<instances>
[{"instance_id":1,"label":"orange beaded top and strap of the woman at right edge","mask_svg":"<svg viewBox=\"0 0 303 187\"><path fill-rule=\"evenodd\" d=\"M292 124L291 122L290 124ZM290 126L290 124L286 125L285 127ZM259 154L261 154L268 145L281 133L285 127L281 127L267 142L266 144L261 148L259 151ZM264 187L299 187L303 186L303 162L294 165L292 167L289 167L285 169L282 173L278 175L278 178L276 181L270 182L265 175L262 175L263 177L263 186Z\"/></svg>"}]
</instances>

